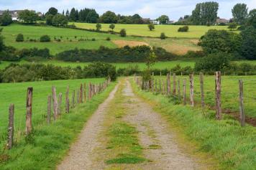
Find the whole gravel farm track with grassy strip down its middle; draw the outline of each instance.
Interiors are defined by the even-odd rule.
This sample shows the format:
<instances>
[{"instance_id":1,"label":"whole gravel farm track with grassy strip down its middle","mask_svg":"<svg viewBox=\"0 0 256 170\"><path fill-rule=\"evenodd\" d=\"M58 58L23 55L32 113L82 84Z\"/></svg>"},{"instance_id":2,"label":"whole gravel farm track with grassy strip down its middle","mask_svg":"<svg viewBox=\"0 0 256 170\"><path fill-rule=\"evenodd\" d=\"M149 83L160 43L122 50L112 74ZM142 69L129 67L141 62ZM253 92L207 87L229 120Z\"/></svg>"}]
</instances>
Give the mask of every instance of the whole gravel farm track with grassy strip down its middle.
<instances>
[{"instance_id":1,"label":"whole gravel farm track with grassy strip down its middle","mask_svg":"<svg viewBox=\"0 0 256 170\"><path fill-rule=\"evenodd\" d=\"M209 169L180 148L167 121L120 80L58 169Z\"/></svg>"}]
</instances>

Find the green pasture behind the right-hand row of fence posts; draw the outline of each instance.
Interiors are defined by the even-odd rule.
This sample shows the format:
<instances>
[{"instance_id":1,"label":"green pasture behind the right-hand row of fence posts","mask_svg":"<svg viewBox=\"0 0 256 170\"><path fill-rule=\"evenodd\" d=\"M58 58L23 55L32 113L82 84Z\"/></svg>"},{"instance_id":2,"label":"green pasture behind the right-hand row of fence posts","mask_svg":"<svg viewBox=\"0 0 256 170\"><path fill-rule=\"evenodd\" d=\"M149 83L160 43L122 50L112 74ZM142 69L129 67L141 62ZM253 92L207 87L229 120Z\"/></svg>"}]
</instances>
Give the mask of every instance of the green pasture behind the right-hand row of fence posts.
<instances>
[{"instance_id":1,"label":"green pasture behind the right-hand row of fence posts","mask_svg":"<svg viewBox=\"0 0 256 170\"><path fill-rule=\"evenodd\" d=\"M160 79L160 76L155 77ZM165 82L166 76L162 76L161 79ZM183 80L186 79L186 98L189 105L189 77L188 76L176 76L176 80L180 79L180 93L183 95ZM253 94L256 93L256 76L224 76L221 77L221 107L224 113L235 113L239 115L239 84L238 81L244 81L244 112L245 115L251 118L256 118L256 98ZM159 80L158 80L159 85ZM177 82L178 85L178 82ZM159 88L159 87L158 87ZM171 89L173 89L173 77L171 77ZM177 88L176 88L177 89ZM177 93L178 94L178 93ZM194 96L198 106L201 105L201 88L199 76L194 76ZM205 103L210 108L215 107L215 77L204 76L204 96Z\"/></svg>"}]
</instances>

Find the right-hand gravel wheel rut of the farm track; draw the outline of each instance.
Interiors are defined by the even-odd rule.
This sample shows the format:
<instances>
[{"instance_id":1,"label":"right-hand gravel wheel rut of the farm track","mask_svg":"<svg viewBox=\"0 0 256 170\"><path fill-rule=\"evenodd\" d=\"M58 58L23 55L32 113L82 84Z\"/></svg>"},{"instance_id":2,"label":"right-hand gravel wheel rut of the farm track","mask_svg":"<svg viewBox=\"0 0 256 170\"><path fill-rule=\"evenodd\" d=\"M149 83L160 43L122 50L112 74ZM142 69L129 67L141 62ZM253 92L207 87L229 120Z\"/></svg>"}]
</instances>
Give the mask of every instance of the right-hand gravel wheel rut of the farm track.
<instances>
[{"instance_id":1,"label":"right-hand gravel wheel rut of the farm track","mask_svg":"<svg viewBox=\"0 0 256 170\"><path fill-rule=\"evenodd\" d=\"M142 169L208 169L199 164L186 151L178 146L175 134L170 132L168 123L155 113L151 106L137 98L132 92L129 81L126 82L124 95L129 96L127 113L124 121L131 123L139 131L141 145L145 148L147 162Z\"/></svg>"}]
</instances>

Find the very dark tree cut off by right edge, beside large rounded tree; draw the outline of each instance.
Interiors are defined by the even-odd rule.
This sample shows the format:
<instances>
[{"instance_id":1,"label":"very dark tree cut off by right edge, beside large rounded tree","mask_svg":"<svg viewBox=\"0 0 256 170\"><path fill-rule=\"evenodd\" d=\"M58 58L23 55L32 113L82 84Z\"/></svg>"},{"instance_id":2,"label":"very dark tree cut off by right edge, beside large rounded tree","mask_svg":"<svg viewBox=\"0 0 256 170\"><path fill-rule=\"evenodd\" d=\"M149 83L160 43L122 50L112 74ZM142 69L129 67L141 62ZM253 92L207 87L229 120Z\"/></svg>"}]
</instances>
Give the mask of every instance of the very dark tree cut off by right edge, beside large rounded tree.
<instances>
[{"instance_id":1,"label":"very dark tree cut off by right edge, beside large rounded tree","mask_svg":"<svg viewBox=\"0 0 256 170\"><path fill-rule=\"evenodd\" d=\"M247 60L256 60L256 29L247 27L241 32L241 55Z\"/></svg>"}]
</instances>

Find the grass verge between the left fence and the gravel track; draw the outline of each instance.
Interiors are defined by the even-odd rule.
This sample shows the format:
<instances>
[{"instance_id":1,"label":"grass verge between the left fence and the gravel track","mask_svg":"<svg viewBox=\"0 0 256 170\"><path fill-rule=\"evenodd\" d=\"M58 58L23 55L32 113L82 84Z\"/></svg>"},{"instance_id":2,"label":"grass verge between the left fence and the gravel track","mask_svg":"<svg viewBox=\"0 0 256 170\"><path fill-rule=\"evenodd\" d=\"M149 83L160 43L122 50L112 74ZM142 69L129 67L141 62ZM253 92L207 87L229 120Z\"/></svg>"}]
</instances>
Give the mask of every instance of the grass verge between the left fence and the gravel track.
<instances>
[{"instance_id":1,"label":"grass verge between the left fence and the gravel track","mask_svg":"<svg viewBox=\"0 0 256 170\"><path fill-rule=\"evenodd\" d=\"M115 85L112 82L104 93L96 95L88 103L78 105L70 114L63 114L50 126L36 126L31 136L17 143L12 150L1 153L0 169L55 169L67 154L70 144L76 140L84 123ZM4 161L1 162L2 159Z\"/></svg>"}]
</instances>

